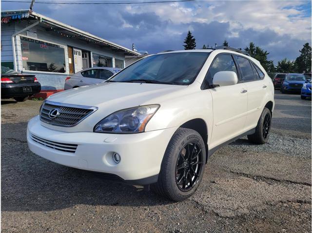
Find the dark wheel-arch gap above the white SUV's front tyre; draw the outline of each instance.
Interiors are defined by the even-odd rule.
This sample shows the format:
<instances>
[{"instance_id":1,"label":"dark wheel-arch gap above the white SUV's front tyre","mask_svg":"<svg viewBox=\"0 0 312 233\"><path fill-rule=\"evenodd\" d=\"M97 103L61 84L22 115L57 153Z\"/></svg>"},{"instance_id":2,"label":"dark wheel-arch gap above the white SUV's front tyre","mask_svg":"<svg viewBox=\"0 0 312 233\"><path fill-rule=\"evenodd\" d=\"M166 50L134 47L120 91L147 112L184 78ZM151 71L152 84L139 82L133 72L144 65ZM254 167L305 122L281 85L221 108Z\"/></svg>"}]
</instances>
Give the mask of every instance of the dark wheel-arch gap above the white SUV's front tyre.
<instances>
[{"instance_id":1,"label":"dark wheel-arch gap above the white SUV's front tyre","mask_svg":"<svg viewBox=\"0 0 312 233\"><path fill-rule=\"evenodd\" d=\"M203 138L203 141L205 143L205 149L206 149L206 163L207 163L207 160L208 160L208 127L207 127L205 120L203 120L202 118L194 118L180 125L180 128L187 128L187 129L195 130Z\"/></svg>"}]
</instances>

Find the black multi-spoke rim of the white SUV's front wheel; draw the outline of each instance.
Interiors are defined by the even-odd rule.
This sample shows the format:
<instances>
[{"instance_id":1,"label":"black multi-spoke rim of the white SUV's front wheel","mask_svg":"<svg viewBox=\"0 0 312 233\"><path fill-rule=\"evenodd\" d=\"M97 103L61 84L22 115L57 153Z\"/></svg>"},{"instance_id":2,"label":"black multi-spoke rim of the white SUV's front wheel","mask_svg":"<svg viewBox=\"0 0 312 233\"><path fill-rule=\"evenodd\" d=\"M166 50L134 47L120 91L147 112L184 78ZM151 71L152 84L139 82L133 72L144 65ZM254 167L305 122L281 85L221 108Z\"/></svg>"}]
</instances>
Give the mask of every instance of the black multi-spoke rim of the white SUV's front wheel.
<instances>
[{"instance_id":1,"label":"black multi-spoke rim of the white SUV's front wheel","mask_svg":"<svg viewBox=\"0 0 312 233\"><path fill-rule=\"evenodd\" d=\"M198 182L203 166L201 149L195 142L188 143L180 151L176 161L176 185L182 192L190 191Z\"/></svg>"}]
</instances>

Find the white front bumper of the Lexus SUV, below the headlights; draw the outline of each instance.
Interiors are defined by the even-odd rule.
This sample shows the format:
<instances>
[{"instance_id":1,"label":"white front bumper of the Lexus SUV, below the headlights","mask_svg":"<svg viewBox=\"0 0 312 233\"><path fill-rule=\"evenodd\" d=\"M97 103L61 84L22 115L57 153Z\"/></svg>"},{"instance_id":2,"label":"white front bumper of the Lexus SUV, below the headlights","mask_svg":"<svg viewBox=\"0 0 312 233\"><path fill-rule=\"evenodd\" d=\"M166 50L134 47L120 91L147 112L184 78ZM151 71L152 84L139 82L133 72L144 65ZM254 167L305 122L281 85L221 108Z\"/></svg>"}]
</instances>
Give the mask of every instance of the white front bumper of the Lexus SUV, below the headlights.
<instances>
[{"instance_id":1,"label":"white front bumper of the Lexus SUV, below the headlights","mask_svg":"<svg viewBox=\"0 0 312 233\"><path fill-rule=\"evenodd\" d=\"M157 181L163 155L175 131L176 128L139 134L68 133L42 126L37 116L28 122L27 142L33 153L53 162L145 185ZM31 135L78 146L75 153L59 151L34 141ZM118 164L113 160L114 153L121 157Z\"/></svg>"}]
</instances>

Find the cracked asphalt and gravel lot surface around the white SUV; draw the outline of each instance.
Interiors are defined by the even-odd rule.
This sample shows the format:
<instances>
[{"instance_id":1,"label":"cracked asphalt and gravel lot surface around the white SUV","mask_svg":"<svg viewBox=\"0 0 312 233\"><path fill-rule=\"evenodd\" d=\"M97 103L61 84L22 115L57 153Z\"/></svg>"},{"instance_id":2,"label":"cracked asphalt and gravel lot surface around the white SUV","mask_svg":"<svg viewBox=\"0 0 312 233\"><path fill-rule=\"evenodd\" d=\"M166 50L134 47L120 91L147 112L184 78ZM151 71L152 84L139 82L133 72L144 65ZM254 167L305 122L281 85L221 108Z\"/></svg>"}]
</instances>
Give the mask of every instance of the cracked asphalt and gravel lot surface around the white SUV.
<instances>
[{"instance_id":1,"label":"cracked asphalt and gravel lot surface around the white SUV","mask_svg":"<svg viewBox=\"0 0 312 233\"><path fill-rule=\"evenodd\" d=\"M179 203L31 153L26 124L40 104L1 101L3 233L311 233L311 100L276 92L269 143L219 149Z\"/></svg>"}]
</instances>

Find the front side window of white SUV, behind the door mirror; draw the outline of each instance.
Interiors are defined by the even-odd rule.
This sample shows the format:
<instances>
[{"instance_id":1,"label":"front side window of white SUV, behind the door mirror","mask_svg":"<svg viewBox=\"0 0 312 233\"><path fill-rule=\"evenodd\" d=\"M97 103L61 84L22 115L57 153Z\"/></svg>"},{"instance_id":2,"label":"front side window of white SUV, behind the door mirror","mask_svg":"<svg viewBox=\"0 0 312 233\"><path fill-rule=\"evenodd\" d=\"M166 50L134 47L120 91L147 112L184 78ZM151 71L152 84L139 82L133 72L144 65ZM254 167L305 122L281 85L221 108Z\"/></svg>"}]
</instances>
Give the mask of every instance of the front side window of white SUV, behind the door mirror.
<instances>
[{"instance_id":1,"label":"front side window of white SUV, behind the door mirror","mask_svg":"<svg viewBox=\"0 0 312 233\"><path fill-rule=\"evenodd\" d=\"M219 71L234 71L237 75L236 66L231 55L220 55L213 61L205 78L207 84L213 83L215 73Z\"/></svg>"}]
</instances>

